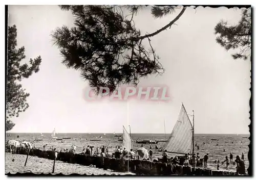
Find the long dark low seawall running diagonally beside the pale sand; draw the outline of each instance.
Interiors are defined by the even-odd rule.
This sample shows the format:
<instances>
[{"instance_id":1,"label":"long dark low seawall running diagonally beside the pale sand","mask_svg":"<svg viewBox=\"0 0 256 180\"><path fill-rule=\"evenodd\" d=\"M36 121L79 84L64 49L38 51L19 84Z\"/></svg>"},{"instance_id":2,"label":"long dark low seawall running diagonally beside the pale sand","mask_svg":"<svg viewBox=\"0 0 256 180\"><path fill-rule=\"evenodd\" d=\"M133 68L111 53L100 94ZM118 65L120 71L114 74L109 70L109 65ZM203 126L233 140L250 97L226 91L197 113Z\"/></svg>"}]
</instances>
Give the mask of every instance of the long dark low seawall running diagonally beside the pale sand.
<instances>
[{"instance_id":1,"label":"long dark low seawall running diagonally beside the pale sand","mask_svg":"<svg viewBox=\"0 0 256 180\"><path fill-rule=\"evenodd\" d=\"M23 148L17 148L14 153L27 155L27 150ZM54 160L55 151L31 149L29 156ZM58 152L56 160L84 166L95 165L97 168L111 169L119 172L130 171L138 175L236 175L236 173L233 171L209 170L180 165L174 166L171 164L143 160L125 160L106 157L102 158L96 156L74 154L71 152Z\"/></svg>"}]
</instances>

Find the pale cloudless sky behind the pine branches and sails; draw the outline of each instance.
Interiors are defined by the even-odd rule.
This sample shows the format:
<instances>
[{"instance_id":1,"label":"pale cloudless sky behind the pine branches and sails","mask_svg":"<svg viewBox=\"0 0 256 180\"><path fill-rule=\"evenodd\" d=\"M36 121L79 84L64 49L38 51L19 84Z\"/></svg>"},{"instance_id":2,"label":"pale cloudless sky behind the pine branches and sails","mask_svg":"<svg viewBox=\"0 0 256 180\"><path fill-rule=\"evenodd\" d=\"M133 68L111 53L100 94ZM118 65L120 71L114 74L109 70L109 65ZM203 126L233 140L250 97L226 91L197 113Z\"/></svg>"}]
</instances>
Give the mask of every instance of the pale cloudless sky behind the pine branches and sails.
<instances>
[{"instance_id":1,"label":"pale cloudless sky behind the pine branches and sails","mask_svg":"<svg viewBox=\"0 0 256 180\"><path fill-rule=\"evenodd\" d=\"M141 34L159 30L180 10L154 19L150 7L134 18ZM30 107L17 118L10 133L171 133L182 102L189 115L195 111L196 134L249 134L250 60L233 60L216 43L215 25L235 24L240 9L187 8L172 28L151 38L165 73L150 75L138 86L167 86L170 101L86 101L80 72L61 64L50 34L73 26L74 18L58 6L10 6L9 25L16 25L18 46L25 46L27 62L41 56L38 73L22 81L30 93Z\"/></svg>"}]
</instances>

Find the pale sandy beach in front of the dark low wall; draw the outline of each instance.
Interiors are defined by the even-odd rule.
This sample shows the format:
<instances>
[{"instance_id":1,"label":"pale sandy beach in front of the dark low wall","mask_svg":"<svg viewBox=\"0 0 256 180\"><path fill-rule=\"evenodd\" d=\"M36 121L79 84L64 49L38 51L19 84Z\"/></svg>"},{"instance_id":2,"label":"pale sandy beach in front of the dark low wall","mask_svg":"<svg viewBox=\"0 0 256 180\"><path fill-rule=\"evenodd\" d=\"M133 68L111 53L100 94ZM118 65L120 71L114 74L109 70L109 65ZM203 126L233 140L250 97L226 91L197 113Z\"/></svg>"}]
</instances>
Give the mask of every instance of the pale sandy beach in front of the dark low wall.
<instances>
[{"instance_id":1,"label":"pale sandy beach in front of the dark low wall","mask_svg":"<svg viewBox=\"0 0 256 180\"><path fill-rule=\"evenodd\" d=\"M14 162L12 161L14 159ZM11 153L6 153L5 161L5 173L14 174L16 172L33 172L33 173L52 173L53 161L48 159L42 159L38 157L29 156L26 167L24 166L26 161L26 155L12 155ZM112 170L103 170L95 167L81 166L78 164L69 164L61 161L55 162L55 171L54 174L87 174L87 175L125 175L125 174L134 174L130 172L115 172Z\"/></svg>"}]
</instances>

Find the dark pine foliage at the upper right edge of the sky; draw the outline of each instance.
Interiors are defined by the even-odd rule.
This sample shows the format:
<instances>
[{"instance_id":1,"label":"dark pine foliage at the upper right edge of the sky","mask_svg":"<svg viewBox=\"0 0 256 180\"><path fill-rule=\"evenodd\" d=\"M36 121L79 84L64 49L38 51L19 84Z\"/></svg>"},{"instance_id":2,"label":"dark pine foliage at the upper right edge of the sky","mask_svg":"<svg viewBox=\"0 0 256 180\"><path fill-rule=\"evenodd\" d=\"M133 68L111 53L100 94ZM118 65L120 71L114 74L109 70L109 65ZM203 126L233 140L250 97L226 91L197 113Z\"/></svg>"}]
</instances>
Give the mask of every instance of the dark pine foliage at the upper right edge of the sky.
<instances>
[{"instance_id":1,"label":"dark pine foliage at the upper right edge of the sky","mask_svg":"<svg viewBox=\"0 0 256 180\"><path fill-rule=\"evenodd\" d=\"M237 25L228 25L220 21L215 27L216 41L226 50L237 49L233 59L244 59L251 55L251 9L243 10L242 18Z\"/></svg>"}]
</instances>

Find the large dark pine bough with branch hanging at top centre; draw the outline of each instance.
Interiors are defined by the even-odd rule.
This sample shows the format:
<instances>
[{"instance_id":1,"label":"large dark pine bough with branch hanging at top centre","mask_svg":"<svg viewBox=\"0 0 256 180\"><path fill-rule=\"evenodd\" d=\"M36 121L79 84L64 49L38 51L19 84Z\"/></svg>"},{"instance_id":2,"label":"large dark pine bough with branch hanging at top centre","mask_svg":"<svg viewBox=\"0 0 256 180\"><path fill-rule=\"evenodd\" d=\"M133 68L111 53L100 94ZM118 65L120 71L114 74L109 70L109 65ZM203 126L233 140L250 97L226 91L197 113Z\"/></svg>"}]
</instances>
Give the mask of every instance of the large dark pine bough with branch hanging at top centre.
<instances>
[{"instance_id":1,"label":"large dark pine bough with branch hanging at top centre","mask_svg":"<svg viewBox=\"0 0 256 180\"><path fill-rule=\"evenodd\" d=\"M184 12L162 29L142 36L133 17L143 6L60 8L70 10L75 17L73 28L63 25L51 34L62 63L79 70L91 87L108 87L110 92L122 84L137 85L140 78L164 72L150 38L170 27ZM131 14L124 15L123 8Z\"/></svg>"}]
</instances>

